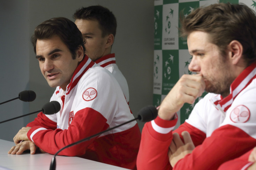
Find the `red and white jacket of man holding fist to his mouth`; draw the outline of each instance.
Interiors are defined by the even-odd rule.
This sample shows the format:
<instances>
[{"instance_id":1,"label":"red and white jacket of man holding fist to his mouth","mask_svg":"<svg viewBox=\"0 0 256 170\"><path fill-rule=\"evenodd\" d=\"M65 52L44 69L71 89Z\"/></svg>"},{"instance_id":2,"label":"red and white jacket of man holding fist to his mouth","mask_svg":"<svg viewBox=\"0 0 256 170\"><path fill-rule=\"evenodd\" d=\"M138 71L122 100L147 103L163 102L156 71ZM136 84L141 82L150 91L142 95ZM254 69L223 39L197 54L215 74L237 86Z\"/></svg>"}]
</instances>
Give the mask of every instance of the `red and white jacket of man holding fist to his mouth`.
<instances>
[{"instance_id":1,"label":"red and white jacket of man holding fist to his mouth","mask_svg":"<svg viewBox=\"0 0 256 170\"><path fill-rule=\"evenodd\" d=\"M256 145L256 64L247 67L231 84L231 94L207 94L192 110L189 119L174 132L190 133L195 149L179 160L173 169L217 169L228 160ZM168 147L177 119L157 117L147 122L137 158L138 170L171 169ZM182 136L181 136L182 137Z\"/></svg>"}]
</instances>

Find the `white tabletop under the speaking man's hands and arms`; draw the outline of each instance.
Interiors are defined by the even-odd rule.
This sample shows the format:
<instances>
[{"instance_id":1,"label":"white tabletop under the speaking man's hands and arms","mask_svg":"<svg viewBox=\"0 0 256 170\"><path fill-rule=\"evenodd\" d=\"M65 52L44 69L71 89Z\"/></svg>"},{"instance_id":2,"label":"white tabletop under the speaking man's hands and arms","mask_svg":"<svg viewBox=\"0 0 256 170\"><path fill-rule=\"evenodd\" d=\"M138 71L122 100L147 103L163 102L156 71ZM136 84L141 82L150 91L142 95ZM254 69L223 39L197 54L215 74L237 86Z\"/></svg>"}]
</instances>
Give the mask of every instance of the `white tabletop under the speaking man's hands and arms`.
<instances>
[{"instance_id":1,"label":"white tabletop under the speaking man's hands and arms","mask_svg":"<svg viewBox=\"0 0 256 170\"><path fill-rule=\"evenodd\" d=\"M48 153L23 153L22 155L11 155L7 152L14 142L0 139L0 170L47 170L50 168L53 155ZM113 165L91 161L78 157L56 156L56 170L127 170Z\"/></svg>"}]
</instances>

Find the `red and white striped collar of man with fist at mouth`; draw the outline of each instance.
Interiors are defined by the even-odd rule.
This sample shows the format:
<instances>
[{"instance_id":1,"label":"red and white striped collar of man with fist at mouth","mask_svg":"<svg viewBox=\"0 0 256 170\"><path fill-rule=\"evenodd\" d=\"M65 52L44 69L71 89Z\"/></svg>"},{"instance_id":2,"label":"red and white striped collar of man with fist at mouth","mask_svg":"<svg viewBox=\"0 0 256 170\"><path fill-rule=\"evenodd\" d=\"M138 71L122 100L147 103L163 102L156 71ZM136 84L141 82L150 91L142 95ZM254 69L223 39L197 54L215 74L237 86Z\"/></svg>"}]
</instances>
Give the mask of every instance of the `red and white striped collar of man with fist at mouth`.
<instances>
[{"instance_id":1,"label":"red and white striped collar of man with fist at mouth","mask_svg":"<svg viewBox=\"0 0 256 170\"><path fill-rule=\"evenodd\" d=\"M224 112L230 108L235 97L245 89L253 79L256 78L256 63L251 64L242 73L235 78L233 83L230 86L230 94L223 99L221 95L217 95L211 99L211 101L218 107L221 108Z\"/></svg>"}]
</instances>

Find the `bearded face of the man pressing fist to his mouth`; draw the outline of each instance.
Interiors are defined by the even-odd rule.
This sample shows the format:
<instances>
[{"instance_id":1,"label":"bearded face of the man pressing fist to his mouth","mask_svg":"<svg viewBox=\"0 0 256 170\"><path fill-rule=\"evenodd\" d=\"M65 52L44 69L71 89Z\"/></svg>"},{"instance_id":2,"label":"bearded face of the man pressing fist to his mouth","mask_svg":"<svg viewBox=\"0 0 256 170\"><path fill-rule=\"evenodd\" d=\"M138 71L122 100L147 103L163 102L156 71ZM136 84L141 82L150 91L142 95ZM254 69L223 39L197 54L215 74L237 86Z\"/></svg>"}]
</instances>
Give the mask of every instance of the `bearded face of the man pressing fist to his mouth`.
<instances>
[{"instance_id":1,"label":"bearded face of the man pressing fist to his mouth","mask_svg":"<svg viewBox=\"0 0 256 170\"><path fill-rule=\"evenodd\" d=\"M227 96L235 79L231 62L227 56L221 56L218 46L210 43L208 35L194 31L187 37L189 53L193 57L189 70L202 74L207 92Z\"/></svg>"}]
</instances>

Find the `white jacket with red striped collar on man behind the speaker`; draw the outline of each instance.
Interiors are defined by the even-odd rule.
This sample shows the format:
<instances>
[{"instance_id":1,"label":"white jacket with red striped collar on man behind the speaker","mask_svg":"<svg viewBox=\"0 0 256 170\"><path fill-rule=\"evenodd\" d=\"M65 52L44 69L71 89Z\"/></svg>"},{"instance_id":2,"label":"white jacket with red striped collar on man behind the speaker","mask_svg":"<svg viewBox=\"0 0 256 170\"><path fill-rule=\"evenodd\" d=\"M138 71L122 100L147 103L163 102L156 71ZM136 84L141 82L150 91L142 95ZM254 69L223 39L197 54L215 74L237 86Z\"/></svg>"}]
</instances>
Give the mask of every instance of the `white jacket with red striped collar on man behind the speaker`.
<instances>
[{"instance_id":1,"label":"white jacket with red striped collar on man behind the speaker","mask_svg":"<svg viewBox=\"0 0 256 170\"><path fill-rule=\"evenodd\" d=\"M117 82L119 83L123 94L125 95L126 101L129 104L129 89L125 76L121 73L117 64L115 63L115 54L108 54L95 61L99 66L107 69L112 73Z\"/></svg>"}]
</instances>

